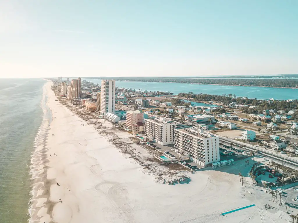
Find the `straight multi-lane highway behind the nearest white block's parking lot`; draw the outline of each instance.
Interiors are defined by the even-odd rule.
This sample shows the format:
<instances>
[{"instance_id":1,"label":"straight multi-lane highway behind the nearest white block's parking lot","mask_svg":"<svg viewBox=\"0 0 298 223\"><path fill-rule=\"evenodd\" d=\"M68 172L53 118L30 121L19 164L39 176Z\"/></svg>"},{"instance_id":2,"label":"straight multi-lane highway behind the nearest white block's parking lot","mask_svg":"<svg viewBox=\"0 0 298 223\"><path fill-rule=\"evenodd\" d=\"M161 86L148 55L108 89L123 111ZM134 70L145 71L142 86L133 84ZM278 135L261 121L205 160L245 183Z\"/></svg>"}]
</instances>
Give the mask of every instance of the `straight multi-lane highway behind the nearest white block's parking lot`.
<instances>
[{"instance_id":1,"label":"straight multi-lane highway behind the nearest white block's parking lot","mask_svg":"<svg viewBox=\"0 0 298 223\"><path fill-rule=\"evenodd\" d=\"M258 155L265 156L268 159L274 160L274 162L276 162L276 163L280 163L282 165L285 165L285 166L288 166L288 167L291 167L293 169L298 170L298 160L291 159L289 157L286 157L285 155L276 155L276 154L273 154L272 152L266 151L265 149L260 149L256 146L247 145L245 143L241 143L239 141L232 140L232 139L229 139L229 138L225 138L225 137L222 137L222 136L219 136L219 138L220 138L221 141L224 141L225 143L228 143L228 144L232 143L234 145L235 144L243 145L243 146L245 146L245 150L253 151L254 153L255 153L256 150L260 151L261 153L258 153Z\"/></svg>"}]
</instances>

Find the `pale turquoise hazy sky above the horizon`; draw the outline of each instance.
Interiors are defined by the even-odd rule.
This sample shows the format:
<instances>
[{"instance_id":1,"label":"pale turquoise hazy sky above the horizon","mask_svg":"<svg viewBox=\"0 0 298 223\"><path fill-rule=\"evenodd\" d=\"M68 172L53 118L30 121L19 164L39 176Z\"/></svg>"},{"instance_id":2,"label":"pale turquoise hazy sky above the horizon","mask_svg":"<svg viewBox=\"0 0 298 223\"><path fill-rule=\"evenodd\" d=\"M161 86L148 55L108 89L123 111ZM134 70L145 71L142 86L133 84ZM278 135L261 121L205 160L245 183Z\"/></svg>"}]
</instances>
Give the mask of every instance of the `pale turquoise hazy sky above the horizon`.
<instances>
[{"instance_id":1,"label":"pale turquoise hazy sky above the horizon","mask_svg":"<svg viewBox=\"0 0 298 223\"><path fill-rule=\"evenodd\" d=\"M298 73L297 0L0 0L0 77Z\"/></svg>"}]
</instances>

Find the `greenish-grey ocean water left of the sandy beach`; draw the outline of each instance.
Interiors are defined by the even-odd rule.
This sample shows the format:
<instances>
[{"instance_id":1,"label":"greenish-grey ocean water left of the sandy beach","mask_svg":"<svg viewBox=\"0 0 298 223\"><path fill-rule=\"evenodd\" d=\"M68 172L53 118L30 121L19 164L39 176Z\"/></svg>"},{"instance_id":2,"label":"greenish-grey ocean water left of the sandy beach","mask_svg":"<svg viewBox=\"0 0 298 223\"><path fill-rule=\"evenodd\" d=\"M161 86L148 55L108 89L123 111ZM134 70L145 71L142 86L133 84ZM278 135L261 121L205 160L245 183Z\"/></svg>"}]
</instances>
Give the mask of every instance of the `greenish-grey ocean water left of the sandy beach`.
<instances>
[{"instance_id":1,"label":"greenish-grey ocean water left of the sandy beach","mask_svg":"<svg viewBox=\"0 0 298 223\"><path fill-rule=\"evenodd\" d=\"M0 223L30 218L30 155L43 119L42 79L0 79Z\"/></svg>"}]
</instances>

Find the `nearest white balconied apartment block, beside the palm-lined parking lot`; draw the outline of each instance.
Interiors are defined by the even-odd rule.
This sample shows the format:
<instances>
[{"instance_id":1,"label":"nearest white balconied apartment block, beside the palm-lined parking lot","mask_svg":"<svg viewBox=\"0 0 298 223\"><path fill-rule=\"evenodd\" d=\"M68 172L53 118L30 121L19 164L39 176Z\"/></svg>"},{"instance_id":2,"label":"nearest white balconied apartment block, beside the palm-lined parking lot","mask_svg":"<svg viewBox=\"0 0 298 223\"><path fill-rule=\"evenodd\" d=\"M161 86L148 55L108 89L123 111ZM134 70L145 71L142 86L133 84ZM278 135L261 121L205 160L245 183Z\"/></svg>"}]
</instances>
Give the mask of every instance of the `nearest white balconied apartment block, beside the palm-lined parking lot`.
<instances>
[{"instance_id":1,"label":"nearest white balconied apartment block, beside the palm-lined parking lot","mask_svg":"<svg viewBox=\"0 0 298 223\"><path fill-rule=\"evenodd\" d=\"M174 130L174 149L179 155L187 155L191 160L206 166L218 162L219 138L197 128L176 128Z\"/></svg>"}]
</instances>

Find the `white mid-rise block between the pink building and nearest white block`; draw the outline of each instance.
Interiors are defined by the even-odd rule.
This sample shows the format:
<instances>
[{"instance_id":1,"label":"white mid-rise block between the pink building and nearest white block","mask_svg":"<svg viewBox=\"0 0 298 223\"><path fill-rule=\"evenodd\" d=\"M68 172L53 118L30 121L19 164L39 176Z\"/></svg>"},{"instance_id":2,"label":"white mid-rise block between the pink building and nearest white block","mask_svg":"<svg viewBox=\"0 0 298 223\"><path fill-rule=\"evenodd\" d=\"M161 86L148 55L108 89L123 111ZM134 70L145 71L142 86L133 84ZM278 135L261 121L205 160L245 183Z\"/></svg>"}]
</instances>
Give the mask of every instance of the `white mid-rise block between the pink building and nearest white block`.
<instances>
[{"instance_id":1,"label":"white mid-rise block between the pink building and nearest white block","mask_svg":"<svg viewBox=\"0 0 298 223\"><path fill-rule=\"evenodd\" d=\"M153 138L160 145L174 143L174 129L181 127L180 122L165 118L144 119L144 135Z\"/></svg>"}]
</instances>

